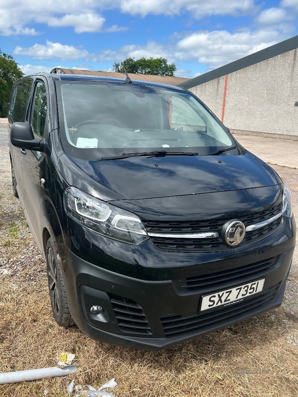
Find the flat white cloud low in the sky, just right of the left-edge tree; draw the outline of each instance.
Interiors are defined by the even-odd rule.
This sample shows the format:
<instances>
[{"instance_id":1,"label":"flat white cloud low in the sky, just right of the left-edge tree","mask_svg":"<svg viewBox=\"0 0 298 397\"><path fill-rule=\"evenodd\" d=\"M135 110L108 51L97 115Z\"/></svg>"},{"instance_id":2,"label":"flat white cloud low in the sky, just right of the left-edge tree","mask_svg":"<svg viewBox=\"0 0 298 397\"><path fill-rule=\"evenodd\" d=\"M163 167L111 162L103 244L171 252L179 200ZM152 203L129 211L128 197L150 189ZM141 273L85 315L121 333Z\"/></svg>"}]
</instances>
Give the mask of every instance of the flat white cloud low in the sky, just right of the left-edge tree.
<instances>
[{"instance_id":1,"label":"flat white cloud low in the sky, just right of the left-edge tree","mask_svg":"<svg viewBox=\"0 0 298 397\"><path fill-rule=\"evenodd\" d=\"M86 50L61 43L52 43L51 41L47 41L46 45L34 44L28 48L18 46L13 53L16 55L27 55L36 59L60 58L61 60L77 60L88 55Z\"/></svg>"}]
</instances>

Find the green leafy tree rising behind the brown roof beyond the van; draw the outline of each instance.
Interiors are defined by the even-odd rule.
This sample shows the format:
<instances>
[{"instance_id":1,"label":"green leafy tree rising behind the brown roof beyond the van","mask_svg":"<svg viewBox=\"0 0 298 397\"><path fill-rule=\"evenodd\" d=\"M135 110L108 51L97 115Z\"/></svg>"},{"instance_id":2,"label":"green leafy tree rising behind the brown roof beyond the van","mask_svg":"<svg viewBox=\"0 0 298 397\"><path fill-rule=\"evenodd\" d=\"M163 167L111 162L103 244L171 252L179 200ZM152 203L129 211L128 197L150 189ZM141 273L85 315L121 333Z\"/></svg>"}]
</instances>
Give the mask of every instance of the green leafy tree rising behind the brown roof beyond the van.
<instances>
[{"instance_id":1,"label":"green leafy tree rising behind the brown roof beyond the van","mask_svg":"<svg viewBox=\"0 0 298 397\"><path fill-rule=\"evenodd\" d=\"M157 76L174 76L177 70L175 64L168 64L165 58L126 58L123 62L115 62L113 70L124 73L123 66L128 73L154 74Z\"/></svg>"}]
</instances>

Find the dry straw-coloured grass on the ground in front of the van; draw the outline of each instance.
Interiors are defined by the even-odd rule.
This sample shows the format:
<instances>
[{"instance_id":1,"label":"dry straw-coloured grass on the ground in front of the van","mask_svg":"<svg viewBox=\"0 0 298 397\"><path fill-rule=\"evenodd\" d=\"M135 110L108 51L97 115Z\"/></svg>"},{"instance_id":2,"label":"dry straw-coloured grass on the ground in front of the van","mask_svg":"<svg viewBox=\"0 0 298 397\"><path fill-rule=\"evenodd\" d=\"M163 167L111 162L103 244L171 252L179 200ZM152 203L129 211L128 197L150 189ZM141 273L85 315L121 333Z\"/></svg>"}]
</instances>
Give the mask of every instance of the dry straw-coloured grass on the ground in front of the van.
<instances>
[{"instance_id":1,"label":"dry straw-coloured grass on the ground in front of the van","mask_svg":"<svg viewBox=\"0 0 298 397\"><path fill-rule=\"evenodd\" d=\"M162 352L145 352L91 340L76 327L58 327L44 273L35 267L17 279L1 277L0 371L55 366L62 351L76 354L79 370L66 378L2 385L0 396L42 396L45 390L48 396L68 396L71 379L100 386L113 377L119 397L298 394L298 351L286 341L282 308L274 311L278 322L264 314ZM39 276L28 282L32 271ZM242 369L270 371L237 373Z\"/></svg>"}]
</instances>

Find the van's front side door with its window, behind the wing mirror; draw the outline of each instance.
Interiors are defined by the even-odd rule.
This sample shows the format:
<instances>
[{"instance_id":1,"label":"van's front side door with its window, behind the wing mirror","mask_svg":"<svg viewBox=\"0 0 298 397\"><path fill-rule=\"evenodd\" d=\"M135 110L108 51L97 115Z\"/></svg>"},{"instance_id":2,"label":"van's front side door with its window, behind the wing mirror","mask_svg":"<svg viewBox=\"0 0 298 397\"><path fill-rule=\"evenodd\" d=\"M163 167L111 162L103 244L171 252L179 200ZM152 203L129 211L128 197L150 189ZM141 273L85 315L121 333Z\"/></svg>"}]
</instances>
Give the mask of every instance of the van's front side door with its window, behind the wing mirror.
<instances>
[{"instance_id":1,"label":"van's front side door with its window, behind the wing mirror","mask_svg":"<svg viewBox=\"0 0 298 397\"><path fill-rule=\"evenodd\" d=\"M30 124L36 138L44 138L48 133L47 89L43 81L37 80L31 102ZM45 153L38 150L25 150L22 156L24 181L24 202L27 220L39 248L42 250L41 230L41 169L45 162ZM28 223L29 223L28 222Z\"/></svg>"}]
</instances>

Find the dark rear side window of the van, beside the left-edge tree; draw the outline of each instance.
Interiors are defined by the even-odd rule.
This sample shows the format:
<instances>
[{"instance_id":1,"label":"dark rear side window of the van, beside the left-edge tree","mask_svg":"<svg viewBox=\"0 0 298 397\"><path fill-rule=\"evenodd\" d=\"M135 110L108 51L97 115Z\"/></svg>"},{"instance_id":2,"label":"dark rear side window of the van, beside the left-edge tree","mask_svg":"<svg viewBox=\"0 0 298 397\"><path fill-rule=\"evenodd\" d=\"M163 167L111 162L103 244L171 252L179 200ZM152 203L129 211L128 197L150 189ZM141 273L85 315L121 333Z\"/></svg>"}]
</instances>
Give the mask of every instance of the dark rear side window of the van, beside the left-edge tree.
<instances>
[{"instance_id":1,"label":"dark rear side window of the van, beside the left-edge tree","mask_svg":"<svg viewBox=\"0 0 298 397\"><path fill-rule=\"evenodd\" d=\"M18 82L11 94L9 114L13 122L24 122L31 92L32 80L26 79Z\"/></svg>"}]
</instances>

